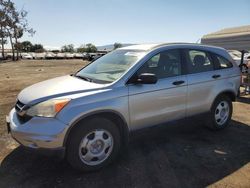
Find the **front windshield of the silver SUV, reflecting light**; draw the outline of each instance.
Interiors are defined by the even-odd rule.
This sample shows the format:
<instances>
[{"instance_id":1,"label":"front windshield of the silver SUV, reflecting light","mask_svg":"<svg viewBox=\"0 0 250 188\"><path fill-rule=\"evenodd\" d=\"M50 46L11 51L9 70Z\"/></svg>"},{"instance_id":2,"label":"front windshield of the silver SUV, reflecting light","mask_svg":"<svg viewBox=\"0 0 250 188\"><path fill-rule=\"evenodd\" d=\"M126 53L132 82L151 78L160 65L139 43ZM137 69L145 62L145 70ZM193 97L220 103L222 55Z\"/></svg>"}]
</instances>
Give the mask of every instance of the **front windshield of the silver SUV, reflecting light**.
<instances>
[{"instance_id":1,"label":"front windshield of the silver SUV, reflecting light","mask_svg":"<svg viewBox=\"0 0 250 188\"><path fill-rule=\"evenodd\" d=\"M80 70L75 76L97 83L111 83L119 79L145 51L115 50Z\"/></svg>"}]
</instances>

